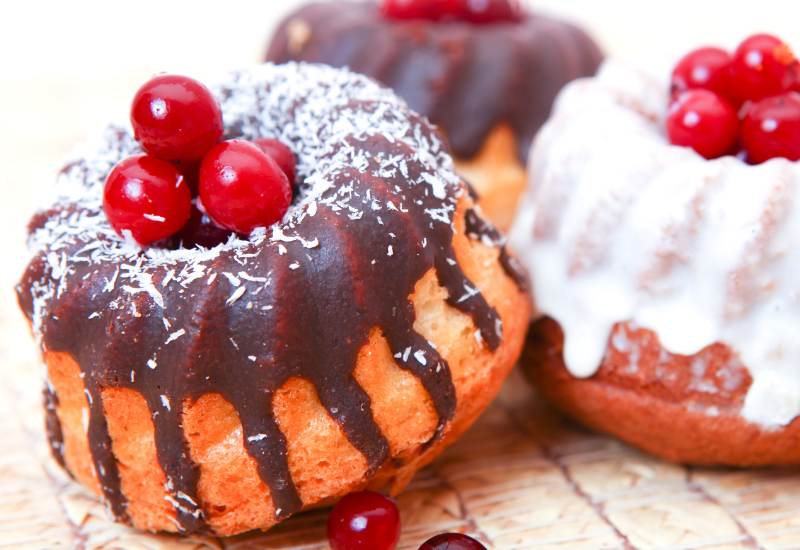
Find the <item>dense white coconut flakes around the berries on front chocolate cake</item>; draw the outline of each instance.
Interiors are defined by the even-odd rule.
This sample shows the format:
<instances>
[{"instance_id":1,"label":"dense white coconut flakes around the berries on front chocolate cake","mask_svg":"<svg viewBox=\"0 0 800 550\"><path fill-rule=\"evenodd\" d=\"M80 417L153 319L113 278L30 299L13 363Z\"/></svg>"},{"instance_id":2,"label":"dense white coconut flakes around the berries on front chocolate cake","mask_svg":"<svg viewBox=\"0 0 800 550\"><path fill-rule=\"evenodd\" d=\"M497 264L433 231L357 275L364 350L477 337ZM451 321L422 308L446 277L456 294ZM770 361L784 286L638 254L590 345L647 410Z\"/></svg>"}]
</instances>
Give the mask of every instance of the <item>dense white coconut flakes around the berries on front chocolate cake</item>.
<instances>
[{"instance_id":1,"label":"dense white coconut flakes around the berries on front chocolate cake","mask_svg":"<svg viewBox=\"0 0 800 550\"><path fill-rule=\"evenodd\" d=\"M188 289L193 284L208 284L217 277L209 266L223 252L234 253L246 279L248 258L257 254L260 246L279 250L319 246L316 236L304 231L303 221L320 208L351 220L359 219L367 209L388 217L418 208L405 200L401 187L396 188L396 201L382 204L374 197L356 196L352 186L334 185L335 176L353 167L374 176L391 176L398 171L408 174L402 157L371 157L358 147L359 141L370 136L401 142L413 151L411 160L426 171L416 180L405 179L405 183L428 186L425 195L439 199L437 205L429 204L425 209L431 224L452 222L453 194L461 193L452 159L435 134L425 131L419 119L411 120L405 103L375 81L324 65L265 64L232 73L211 88L220 99L226 137L268 137L290 147L303 180L299 200L282 222L258 228L249 238L231 235L228 242L210 249L142 249L132 239L117 235L102 209L103 184L111 168L124 157L141 152L141 148L130 129L105 129L73 151L73 161L58 177L48 218L29 239L31 254L46 262L41 279L31 284L32 326L40 342L47 305L67 285L75 283L72 275L76 264L116 264L104 292L122 286L127 295L144 292L163 308L164 287L181 285ZM160 282L155 285L157 272ZM266 278L259 279L264 280L256 281L258 284L269 284ZM243 292L243 287L232 287L230 302ZM115 303L119 308L135 307L133 302L123 302Z\"/></svg>"}]
</instances>

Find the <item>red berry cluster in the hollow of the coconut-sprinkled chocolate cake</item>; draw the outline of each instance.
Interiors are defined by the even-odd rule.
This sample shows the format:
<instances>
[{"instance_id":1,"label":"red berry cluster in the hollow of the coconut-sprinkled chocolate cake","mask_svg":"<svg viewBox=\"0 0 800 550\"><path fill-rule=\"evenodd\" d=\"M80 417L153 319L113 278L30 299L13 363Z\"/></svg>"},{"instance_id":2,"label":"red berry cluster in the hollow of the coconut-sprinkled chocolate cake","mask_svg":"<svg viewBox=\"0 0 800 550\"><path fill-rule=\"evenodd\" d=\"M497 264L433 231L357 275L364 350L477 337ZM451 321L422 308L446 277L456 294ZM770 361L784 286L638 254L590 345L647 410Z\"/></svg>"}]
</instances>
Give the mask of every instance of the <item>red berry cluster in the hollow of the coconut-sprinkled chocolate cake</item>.
<instances>
[{"instance_id":1,"label":"red berry cluster in the hollow of the coconut-sprinkled chocolate cake","mask_svg":"<svg viewBox=\"0 0 800 550\"><path fill-rule=\"evenodd\" d=\"M198 194L217 225L244 234L272 225L289 208L291 150L266 138L220 143L222 111L197 80L163 74L145 82L133 98L131 125L147 154L117 163L103 189L103 209L120 235L146 245L180 231L204 243L208 231L192 204ZM201 234L184 235L187 229Z\"/></svg>"}]
</instances>

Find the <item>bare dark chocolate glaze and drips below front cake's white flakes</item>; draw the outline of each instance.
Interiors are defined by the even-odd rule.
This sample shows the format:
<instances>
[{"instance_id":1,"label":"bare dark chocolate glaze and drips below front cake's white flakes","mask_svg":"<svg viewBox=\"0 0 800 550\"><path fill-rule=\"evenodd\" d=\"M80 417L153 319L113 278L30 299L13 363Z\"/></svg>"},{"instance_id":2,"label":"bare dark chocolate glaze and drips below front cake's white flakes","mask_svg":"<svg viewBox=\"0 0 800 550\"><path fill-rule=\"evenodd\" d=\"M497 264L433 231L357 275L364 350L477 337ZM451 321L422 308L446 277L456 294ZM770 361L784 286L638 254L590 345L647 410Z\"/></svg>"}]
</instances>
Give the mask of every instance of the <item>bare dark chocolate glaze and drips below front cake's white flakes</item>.
<instances>
[{"instance_id":1,"label":"bare dark chocolate glaze and drips below front cake's white flakes","mask_svg":"<svg viewBox=\"0 0 800 550\"><path fill-rule=\"evenodd\" d=\"M338 75L335 72L323 81ZM356 83L366 81L351 78ZM233 84L223 86L218 94L227 98L234 88ZM259 93L268 95L269 90L267 85ZM416 132L422 143L436 142L424 119L397 111L397 106L390 105L388 111L385 107L386 101L381 100L347 105L364 116L406 120L408 132ZM257 125L238 121L232 127L245 138L259 135L254 129ZM124 132L114 130L108 135L108 147L118 151L119 158L137 150ZM302 154L305 144L293 142L292 146ZM368 165L345 166L328 174L332 185L314 202L315 214L305 205L299 207L302 218L295 216L282 224L287 234L291 229L306 242L317 239L318 245L256 239L238 248L218 247L219 254L205 264L203 277L186 284L177 284L174 274L188 272L188 261L136 272L146 275L136 279L139 288L131 286L132 278L123 283L121 273L141 266L146 253L120 253L111 260L95 261L90 252L83 252L94 244L117 246L108 232L99 237L99 243L80 235L53 245L46 232L78 225L80 215L96 216L90 207L59 204L39 215L32 240L46 244L39 245L18 286L20 305L42 348L68 353L85 374L92 460L117 518L127 519L126 501L103 410L103 388L130 388L146 400L158 462L184 532L209 530L198 506L199 471L191 461L181 418L185 402L208 393L220 394L235 408L247 452L270 488L278 519L302 506L289 473L286 440L272 412L275 392L292 377L314 385L322 406L367 459L369 472L378 470L388 457L388 442L371 415L369 396L353 377L358 352L374 327L386 337L397 364L416 376L430 394L439 414L432 441L446 431L456 407L455 389L447 362L413 329L415 313L409 296L417 281L435 268L439 283L448 291L448 303L471 316L488 349L497 349L502 338L497 312L477 290L465 294L465 289L475 286L457 263L447 261L456 259L451 220L436 221L430 215L431 209L443 205L452 212L464 192L463 184L444 186L439 198L434 196L436 191L431 193L431 186L414 184L423 181L423 173L430 169L418 151L396 136L351 136L333 144L326 158L350 147L365 152ZM379 172L381 161L389 157L407 161L407 177L403 170ZM65 176L102 181L112 164L105 173L92 175L93 168L79 161L66 169ZM301 163L301 169L306 176L313 175L313 168L309 172ZM92 192L97 192L98 184L93 185ZM351 205L369 206L369 201L377 201L372 204L383 206L364 208L358 217L348 215L352 209L334 202L340 195L345 197L342 190L354 199ZM397 207L387 208L389 204ZM470 227L483 227L474 212L469 219ZM107 229L104 217L96 223ZM486 232L485 228L480 231ZM242 288L247 293L234 298ZM60 425L53 406L57 397L47 395L48 434L59 458Z\"/></svg>"}]
</instances>

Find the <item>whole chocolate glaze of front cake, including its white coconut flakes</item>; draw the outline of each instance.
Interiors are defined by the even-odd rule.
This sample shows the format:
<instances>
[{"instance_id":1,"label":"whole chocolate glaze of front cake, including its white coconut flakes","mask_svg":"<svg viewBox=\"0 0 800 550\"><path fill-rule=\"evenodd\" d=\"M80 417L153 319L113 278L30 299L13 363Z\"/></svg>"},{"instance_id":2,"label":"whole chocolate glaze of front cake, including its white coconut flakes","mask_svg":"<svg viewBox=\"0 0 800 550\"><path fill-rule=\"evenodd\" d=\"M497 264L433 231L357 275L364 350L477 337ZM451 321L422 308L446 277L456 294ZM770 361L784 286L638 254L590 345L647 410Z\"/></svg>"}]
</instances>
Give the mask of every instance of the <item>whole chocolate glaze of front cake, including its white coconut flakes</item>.
<instances>
[{"instance_id":1,"label":"whole chocolate glaze of front cake, including its white coconut flakes","mask_svg":"<svg viewBox=\"0 0 800 550\"><path fill-rule=\"evenodd\" d=\"M246 138L282 136L300 159L299 203L271 237L232 237L211 250L122 243L98 197L111 166L137 145L111 129L94 157L63 174L62 185L78 191L37 223L36 255L18 287L43 349L68 353L85 373L90 449L112 512L126 518L102 390L130 388L149 407L185 532L209 528L184 403L217 393L235 408L281 519L303 504L272 411L290 378L313 384L372 474L389 445L353 370L373 328L430 394L439 414L433 440L456 407L447 362L413 329L417 281L435 268L448 303L470 315L488 349L502 338L497 312L455 262L452 216L464 187L424 119L368 79L330 68L266 65L234 75L217 93L229 128ZM470 211L468 228L499 238L479 222ZM56 396L48 395L52 411ZM54 414L48 426L55 451Z\"/></svg>"}]
</instances>

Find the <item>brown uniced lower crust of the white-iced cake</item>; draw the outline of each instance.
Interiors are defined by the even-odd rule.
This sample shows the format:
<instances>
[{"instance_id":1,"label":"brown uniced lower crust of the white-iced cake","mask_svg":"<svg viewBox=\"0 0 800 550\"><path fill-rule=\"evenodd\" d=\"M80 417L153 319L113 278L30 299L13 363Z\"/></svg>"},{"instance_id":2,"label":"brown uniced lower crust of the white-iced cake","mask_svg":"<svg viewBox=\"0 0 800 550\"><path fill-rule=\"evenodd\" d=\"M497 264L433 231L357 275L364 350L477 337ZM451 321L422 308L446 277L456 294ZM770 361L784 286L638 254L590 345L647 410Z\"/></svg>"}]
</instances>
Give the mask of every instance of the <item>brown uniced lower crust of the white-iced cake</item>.
<instances>
[{"instance_id":1,"label":"brown uniced lower crust of the white-iced cake","mask_svg":"<svg viewBox=\"0 0 800 550\"><path fill-rule=\"evenodd\" d=\"M674 355L654 332L619 323L598 372L580 379L564 365L563 343L558 323L539 319L521 363L539 391L582 424L674 462L800 464L800 421L762 429L739 414L752 380L728 346Z\"/></svg>"}]
</instances>

